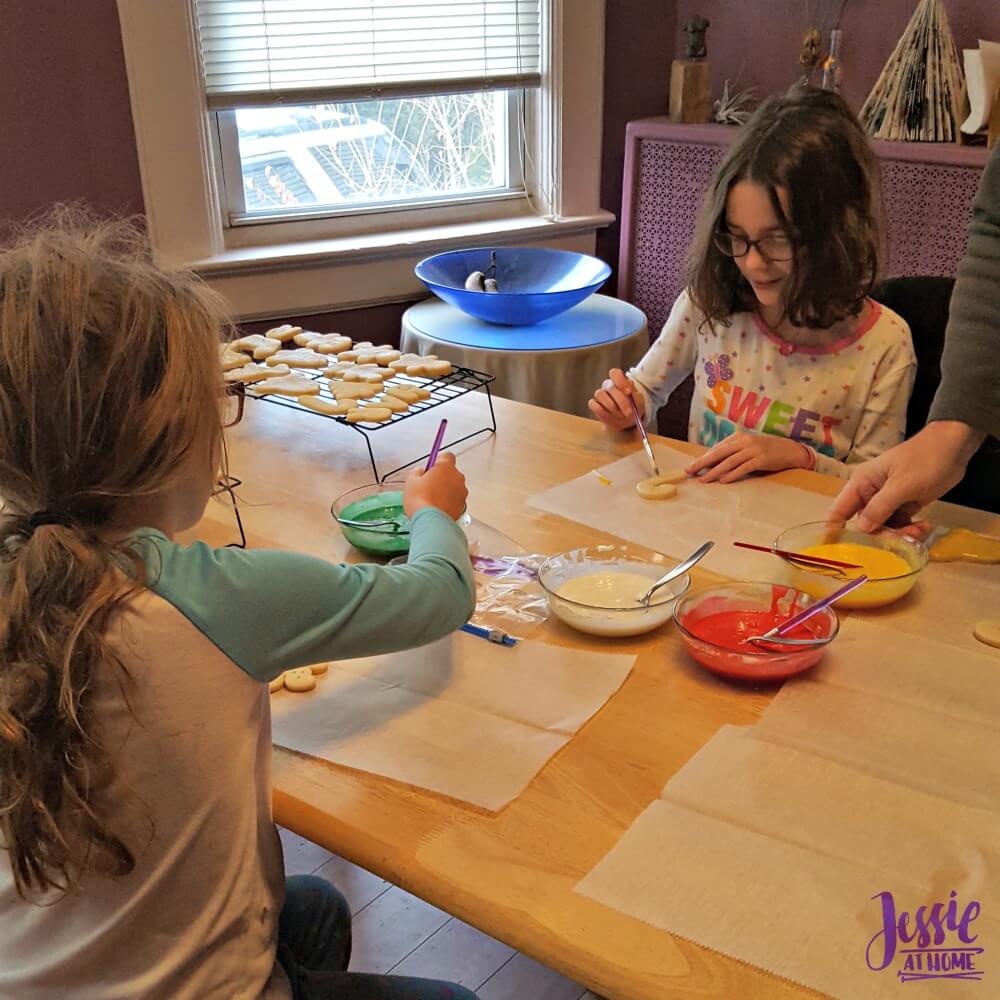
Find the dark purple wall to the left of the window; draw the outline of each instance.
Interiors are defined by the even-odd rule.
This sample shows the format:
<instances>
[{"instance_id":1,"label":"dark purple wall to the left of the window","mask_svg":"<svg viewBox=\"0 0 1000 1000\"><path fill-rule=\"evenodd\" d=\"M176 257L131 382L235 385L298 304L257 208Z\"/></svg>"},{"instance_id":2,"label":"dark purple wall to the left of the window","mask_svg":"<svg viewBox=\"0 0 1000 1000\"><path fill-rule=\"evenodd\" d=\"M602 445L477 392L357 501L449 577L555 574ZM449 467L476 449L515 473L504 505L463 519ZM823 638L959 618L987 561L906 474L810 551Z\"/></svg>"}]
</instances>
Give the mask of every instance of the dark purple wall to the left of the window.
<instances>
[{"instance_id":1,"label":"dark purple wall to the left of the window","mask_svg":"<svg viewBox=\"0 0 1000 1000\"><path fill-rule=\"evenodd\" d=\"M115 0L3 5L0 225L57 201L141 212Z\"/></svg>"}]
</instances>

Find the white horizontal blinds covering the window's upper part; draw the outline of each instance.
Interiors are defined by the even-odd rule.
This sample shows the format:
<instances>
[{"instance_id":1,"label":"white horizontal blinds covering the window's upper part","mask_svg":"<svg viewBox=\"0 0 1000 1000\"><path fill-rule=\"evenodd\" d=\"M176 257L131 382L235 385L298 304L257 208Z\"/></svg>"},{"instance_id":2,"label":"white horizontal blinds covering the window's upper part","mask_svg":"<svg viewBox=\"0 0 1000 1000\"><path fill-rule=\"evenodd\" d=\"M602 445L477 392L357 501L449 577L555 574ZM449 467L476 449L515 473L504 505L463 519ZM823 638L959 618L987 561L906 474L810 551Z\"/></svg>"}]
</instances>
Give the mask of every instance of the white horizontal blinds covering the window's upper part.
<instances>
[{"instance_id":1,"label":"white horizontal blinds covering the window's upper part","mask_svg":"<svg viewBox=\"0 0 1000 1000\"><path fill-rule=\"evenodd\" d=\"M539 0L195 0L210 108L537 86Z\"/></svg>"}]
</instances>

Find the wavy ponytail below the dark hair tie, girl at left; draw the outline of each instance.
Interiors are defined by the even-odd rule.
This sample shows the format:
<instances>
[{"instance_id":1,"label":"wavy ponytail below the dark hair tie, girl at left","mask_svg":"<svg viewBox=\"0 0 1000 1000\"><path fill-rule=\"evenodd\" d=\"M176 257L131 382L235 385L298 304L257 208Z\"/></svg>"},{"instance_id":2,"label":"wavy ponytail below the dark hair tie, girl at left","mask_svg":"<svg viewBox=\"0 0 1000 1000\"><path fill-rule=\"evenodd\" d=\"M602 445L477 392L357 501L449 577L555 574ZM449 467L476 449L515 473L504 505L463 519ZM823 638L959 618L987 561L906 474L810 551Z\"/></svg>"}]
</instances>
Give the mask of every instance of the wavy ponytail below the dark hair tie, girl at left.
<instances>
[{"instance_id":1,"label":"wavy ponytail below the dark hair tie, girl at left","mask_svg":"<svg viewBox=\"0 0 1000 1000\"><path fill-rule=\"evenodd\" d=\"M69 891L87 869L123 875L134 866L129 847L94 805L111 762L94 729L90 696L97 670L107 666L118 671L128 697L107 631L136 584L121 572L124 553L69 518L5 520L0 838L17 891L27 897Z\"/></svg>"}]
</instances>

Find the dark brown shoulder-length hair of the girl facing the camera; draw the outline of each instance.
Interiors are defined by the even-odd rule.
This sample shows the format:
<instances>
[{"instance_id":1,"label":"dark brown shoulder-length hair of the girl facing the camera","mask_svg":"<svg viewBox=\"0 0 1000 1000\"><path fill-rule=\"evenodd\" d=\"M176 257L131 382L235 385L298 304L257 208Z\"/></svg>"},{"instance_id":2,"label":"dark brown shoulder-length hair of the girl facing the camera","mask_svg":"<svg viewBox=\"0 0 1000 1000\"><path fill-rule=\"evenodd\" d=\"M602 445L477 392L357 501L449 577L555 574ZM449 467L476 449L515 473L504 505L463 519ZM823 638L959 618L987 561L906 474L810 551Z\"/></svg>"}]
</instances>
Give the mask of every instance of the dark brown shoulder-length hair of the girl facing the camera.
<instances>
[{"instance_id":1,"label":"dark brown shoulder-length hair of the girl facing the camera","mask_svg":"<svg viewBox=\"0 0 1000 1000\"><path fill-rule=\"evenodd\" d=\"M878 278L879 211L875 156L854 112L838 94L796 86L769 97L733 140L705 195L688 258L688 289L710 325L753 309L756 298L736 261L713 242L738 181L766 188L795 248L785 315L826 329L856 315ZM787 192L786 215L778 190Z\"/></svg>"}]
</instances>

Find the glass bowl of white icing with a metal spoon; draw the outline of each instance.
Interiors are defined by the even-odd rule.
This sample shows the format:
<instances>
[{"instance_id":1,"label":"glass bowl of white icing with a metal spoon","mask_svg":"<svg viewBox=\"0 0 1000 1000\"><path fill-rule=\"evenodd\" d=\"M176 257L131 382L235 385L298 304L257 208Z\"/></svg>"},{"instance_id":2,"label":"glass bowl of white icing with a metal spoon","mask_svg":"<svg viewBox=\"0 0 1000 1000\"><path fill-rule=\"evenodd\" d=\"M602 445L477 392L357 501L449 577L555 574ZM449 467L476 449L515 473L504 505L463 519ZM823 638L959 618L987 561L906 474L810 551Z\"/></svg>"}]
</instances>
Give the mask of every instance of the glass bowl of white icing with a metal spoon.
<instances>
[{"instance_id":1,"label":"glass bowl of white icing with a metal spoon","mask_svg":"<svg viewBox=\"0 0 1000 1000\"><path fill-rule=\"evenodd\" d=\"M642 635L670 620L674 601L691 585L684 573L653 594L648 607L639 603L678 562L638 545L591 545L549 556L538 582L551 612L571 628L611 638Z\"/></svg>"}]
</instances>

